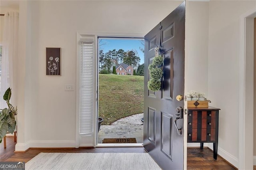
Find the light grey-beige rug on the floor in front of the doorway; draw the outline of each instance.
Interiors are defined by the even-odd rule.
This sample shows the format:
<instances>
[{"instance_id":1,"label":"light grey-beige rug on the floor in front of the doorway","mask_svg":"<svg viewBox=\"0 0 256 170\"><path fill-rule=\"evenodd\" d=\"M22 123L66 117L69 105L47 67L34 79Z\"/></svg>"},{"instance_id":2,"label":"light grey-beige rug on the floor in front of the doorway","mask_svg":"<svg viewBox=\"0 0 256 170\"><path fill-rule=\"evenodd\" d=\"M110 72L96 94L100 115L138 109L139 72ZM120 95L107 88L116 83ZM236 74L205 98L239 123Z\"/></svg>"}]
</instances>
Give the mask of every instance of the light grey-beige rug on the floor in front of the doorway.
<instances>
[{"instance_id":1,"label":"light grey-beige rug on the floor in front of the doorway","mask_svg":"<svg viewBox=\"0 0 256 170\"><path fill-rule=\"evenodd\" d=\"M161 170L148 153L40 153L27 169Z\"/></svg>"}]
</instances>

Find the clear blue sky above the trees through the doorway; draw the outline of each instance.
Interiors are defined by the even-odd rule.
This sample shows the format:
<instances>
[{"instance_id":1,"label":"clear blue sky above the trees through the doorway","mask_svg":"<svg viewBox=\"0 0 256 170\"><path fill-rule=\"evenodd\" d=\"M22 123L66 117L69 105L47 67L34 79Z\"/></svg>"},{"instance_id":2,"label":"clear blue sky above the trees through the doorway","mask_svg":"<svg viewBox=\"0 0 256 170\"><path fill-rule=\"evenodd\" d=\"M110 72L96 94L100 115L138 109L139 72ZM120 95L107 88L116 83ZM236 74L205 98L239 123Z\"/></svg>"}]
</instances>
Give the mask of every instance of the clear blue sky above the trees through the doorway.
<instances>
[{"instance_id":1,"label":"clear blue sky above the trees through the doorway","mask_svg":"<svg viewBox=\"0 0 256 170\"><path fill-rule=\"evenodd\" d=\"M116 49L118 51L119 49L123 49L124 51L136 49L138 51L138 55L140 57L140 64L144 63L144 53L140 50L139 47L144 49L144 45L140 42L140 39L101 39L99 38L100 49L103 50L104 53L108 52L109 50Z\"/></svg>"}]
</instances>

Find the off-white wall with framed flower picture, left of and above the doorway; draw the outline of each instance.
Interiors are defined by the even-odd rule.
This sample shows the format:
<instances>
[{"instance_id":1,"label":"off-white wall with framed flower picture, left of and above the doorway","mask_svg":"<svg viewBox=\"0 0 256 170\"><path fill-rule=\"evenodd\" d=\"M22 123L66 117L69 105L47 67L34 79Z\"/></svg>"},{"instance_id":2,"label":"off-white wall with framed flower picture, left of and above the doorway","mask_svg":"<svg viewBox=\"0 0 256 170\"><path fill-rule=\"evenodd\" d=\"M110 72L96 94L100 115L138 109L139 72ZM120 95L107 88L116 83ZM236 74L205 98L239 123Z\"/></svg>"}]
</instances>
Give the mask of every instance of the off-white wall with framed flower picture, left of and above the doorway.
<instances>
[{"instance_id":1,"label":"off-white wall with framed flower picture, left of and above the doorway","mask_svg":"<svg viewBox=\"0 0 256 170\"><path fill-rule=\"evenodd\" d=\"M22 55L25 65L20 66L22 71L25 66L26 71L20 75L25 77L24 112L19 113L24 117L24 125L19 129L16 150L75 146L76 92L64 91L64 85L76 87L76 32L146 34L180 4L161 3L160 6L158 1L26 2L27 8L20 9L21 22L27 26L23 28L26 37L21 41L25 42L23 48L28 54ZM46 47L62 48L61 76L45 75Z\"/></svg>"}]
</instances>

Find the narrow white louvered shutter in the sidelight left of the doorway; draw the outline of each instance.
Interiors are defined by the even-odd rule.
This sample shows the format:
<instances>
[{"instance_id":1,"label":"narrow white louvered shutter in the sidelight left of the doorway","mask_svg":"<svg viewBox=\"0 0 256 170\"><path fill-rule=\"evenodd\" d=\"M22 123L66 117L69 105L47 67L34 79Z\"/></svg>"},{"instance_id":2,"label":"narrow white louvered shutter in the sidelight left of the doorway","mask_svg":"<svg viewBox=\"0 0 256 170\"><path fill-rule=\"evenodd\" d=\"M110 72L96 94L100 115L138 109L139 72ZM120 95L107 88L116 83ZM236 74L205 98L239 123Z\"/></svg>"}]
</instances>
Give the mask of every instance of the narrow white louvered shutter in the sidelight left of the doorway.
<instances>
[{"instance_id":1,"label":"narrow white louvered shutter in the sidelight left of the doorway","mask_svg":"<svg viewBox=\"0 0 256 170\"><path fill-rule=\"evenodd\" d=\"M94 42L82 40L80 48L80 135L92 134Z\"/></svg>"}]
</instances>

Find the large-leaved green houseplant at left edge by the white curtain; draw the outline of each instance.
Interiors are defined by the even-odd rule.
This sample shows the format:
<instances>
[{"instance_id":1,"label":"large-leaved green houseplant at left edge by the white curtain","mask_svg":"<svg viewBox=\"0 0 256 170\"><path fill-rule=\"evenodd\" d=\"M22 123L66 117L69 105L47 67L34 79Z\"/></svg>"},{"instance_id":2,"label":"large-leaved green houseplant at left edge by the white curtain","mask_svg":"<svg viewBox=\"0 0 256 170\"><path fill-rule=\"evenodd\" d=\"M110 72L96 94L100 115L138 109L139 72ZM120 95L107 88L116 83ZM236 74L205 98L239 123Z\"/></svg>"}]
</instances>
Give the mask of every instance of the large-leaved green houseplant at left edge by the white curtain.
<instances>
[{"instance_id":1,"label":"large-leaved green houseplant at left edge by the white curtain","mask_svg":"<svg viewBox=\"0 0 256 170\"><path fill-rule=\"evenodd\" d=\"M15 115L17 115L17 107L13 107L10 103L12 91L10 87L4 93L4 100L8 108L0 109L0 143L7 132L13 133L16 128Z\"/></svg>"}]
</instances>

